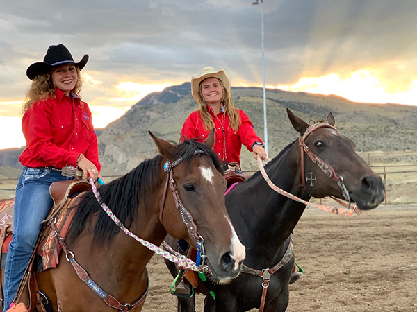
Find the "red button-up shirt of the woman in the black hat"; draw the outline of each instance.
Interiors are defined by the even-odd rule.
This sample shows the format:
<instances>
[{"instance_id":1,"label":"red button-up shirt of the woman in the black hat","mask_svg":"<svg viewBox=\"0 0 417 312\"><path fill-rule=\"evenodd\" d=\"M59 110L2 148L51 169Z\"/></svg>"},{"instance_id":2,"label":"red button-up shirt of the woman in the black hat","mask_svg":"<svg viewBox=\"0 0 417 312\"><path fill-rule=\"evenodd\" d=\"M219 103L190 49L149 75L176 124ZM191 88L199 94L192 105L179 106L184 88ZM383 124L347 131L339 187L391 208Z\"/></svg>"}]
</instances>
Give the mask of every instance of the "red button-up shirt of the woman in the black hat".
<instances>
[{"instance_id":1,"label":"red button-up shirt of the woman in the black hat","mask_svg":"<svg viewBox=\"0 0 417 312\"><path fill-rule=\"evenodd\" d=\"M100 171L97 135L87 103L56 89L56 98L38 101L22 119L26 148L19 160L23 166L40 168L75 166L82 153Z\"/></svg>"}]
</instances>

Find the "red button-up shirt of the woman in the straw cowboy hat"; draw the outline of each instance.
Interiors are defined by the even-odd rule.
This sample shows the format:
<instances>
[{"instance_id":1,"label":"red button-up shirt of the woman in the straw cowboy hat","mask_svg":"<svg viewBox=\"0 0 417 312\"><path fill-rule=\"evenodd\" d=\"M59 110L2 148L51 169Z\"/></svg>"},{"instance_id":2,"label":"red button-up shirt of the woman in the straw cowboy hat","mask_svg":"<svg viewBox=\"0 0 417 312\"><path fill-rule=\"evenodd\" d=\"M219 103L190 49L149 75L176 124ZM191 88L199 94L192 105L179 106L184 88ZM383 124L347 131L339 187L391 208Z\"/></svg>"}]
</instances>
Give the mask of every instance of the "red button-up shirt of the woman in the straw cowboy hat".
<instances>
[{"instance_id":1,"label":"red button-up shirt of the woman in the straw cowboy hat","mask_svg":"<svg viewBox=\"0 0 417 312\"><path fill-rule=\"evenodd\" d=\"M236 109L237 110L237 109ZM252 145L256 142L262 142L262 140L256 135L254 125L250 121L247 114L243 110L237 110L240 115L240 126L237 131L233 130L229 125L229 116L224 116L224 129L226 138L226 155L224 159L227 159L229 164L231 162L237 162L240 164L240 150L242 144L246 146L247 150L252 152ZM218 113L215 118L215 114L210 110L210 114L213 117L215 124L215 144L213 150L218 155L220 161L223 160L224 151L224 139L223 139L223 114L224 112ZM210 130L204 129L204 124L199 111L192 112L186 119L181 130L181 135L187 139L197 139L197 141L204 141Z\"/></svg>"}]
</instances>

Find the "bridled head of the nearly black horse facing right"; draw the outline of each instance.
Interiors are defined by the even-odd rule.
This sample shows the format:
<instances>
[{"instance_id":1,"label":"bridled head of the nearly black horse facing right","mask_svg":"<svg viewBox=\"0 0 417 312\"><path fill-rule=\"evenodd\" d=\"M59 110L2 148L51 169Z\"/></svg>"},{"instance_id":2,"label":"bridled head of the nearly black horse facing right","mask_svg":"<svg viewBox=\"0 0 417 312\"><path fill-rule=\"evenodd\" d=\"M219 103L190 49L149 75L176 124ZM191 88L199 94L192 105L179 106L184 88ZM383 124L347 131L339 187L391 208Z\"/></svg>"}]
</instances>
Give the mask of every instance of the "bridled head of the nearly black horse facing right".
<instances>
[{"instance_id":1,"label":"bridled head of the nearly black horse facing right","mask_svg":"<svg viewBox=\"0 0 417 312\"><path fill-rule=\"evenodd\" d=\"M300 132L302 183L310 196L329 193L355 202L361 209L376 208L384 200L384 183L355 152L354 142L334 128L332 113L309 125L287 108L293 128ZM308 156L308 157L307 157Z\"/></svg>"}]
</instances>

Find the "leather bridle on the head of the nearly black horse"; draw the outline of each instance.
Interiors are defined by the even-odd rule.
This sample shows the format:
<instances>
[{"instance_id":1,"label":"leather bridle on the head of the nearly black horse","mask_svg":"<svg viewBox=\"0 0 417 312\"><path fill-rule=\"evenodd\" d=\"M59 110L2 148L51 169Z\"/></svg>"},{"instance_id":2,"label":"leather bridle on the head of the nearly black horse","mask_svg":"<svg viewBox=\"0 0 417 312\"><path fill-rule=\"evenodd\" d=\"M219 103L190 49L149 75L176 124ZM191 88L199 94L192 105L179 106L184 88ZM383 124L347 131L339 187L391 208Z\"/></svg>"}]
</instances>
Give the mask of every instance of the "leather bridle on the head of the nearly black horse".
<instances>
[{"instance_id":1,"label":"leather bridle on the head of the nearly black horse","mask_svg":"<svg viewBox=\"0 0 417 312\"><path fill-rule=\"evenodd\" d=\"M343 177L341 175L338 175L331 165L327 164L327 162L325 162L323 159L321 159L316 154L314 154L309 148L309 146L306 146L305 144L305 140L311 134L311 132L319 128L331 128L334 131L338 132L336 128L334 128L334 126L330 125L329 123L314 123L313 125L310 125L309 128L306 129L306 132L304 132L304 135L300 135L300 137L298 138L298 144L300 145L301 174L302 174L303 187L304 189L306 189L306 177L304 173L304 170L305 170L304 153L303 153L305 152L307 155L309 155L311 161L314 164L316 164L321 169L321 171L325 173L327 177L337 182L338 187L340 187L342 190L343 197L345 198L345 200L347 200L347 202L349 202L349 205L350 205L349 191L347 191L347 188L345 184L343 183Z\"/></svg>"}]
</instances>

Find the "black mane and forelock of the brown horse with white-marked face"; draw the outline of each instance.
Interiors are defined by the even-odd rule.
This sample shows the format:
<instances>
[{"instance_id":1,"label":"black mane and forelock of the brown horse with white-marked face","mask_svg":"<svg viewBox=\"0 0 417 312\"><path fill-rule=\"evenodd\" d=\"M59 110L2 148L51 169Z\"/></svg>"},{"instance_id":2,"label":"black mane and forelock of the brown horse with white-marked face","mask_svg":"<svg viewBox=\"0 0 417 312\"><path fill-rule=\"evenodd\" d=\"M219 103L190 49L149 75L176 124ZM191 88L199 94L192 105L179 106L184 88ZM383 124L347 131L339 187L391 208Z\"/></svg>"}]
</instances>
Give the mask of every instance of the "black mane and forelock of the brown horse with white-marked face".
<instances>
[{"instance_id":1,"label":"black mane and forelock of the brown horse with white-marked face","mask_svg":"<svg viewBox=\"0 0 417 312\"><path fill-rule=\"evenodd\" d=\"M183 162L189 164L195 150L202 150L204 155L211 159L216 170L220 173L222 172L220 160L213 150L197 141L186 140L174 146L174 157L176 159L182 157ZM202 156L197 154L197 157ZM163 157L161 155L157 155L152 159L145 159L145 161L140 163L131 172L99 187L98 190L102 202L106 203L126 228L129 228L136 218L140 201L146 207L146 192L154 191L154 189L161 187L160 173L161 167L163 166L161 164L162 159ZM150 202L152 200L149 200ZM81 198L81 202L72 208L76 209L76 211L74 212L74 218L67 236L71 243L83 232L85 223L92 222L90 218L92 215L97 215L93 242L104 243L107 241L110 244L120 231L120 228L106 214L106 211L101 208L92 191L85 192Z\"/></svg>"}]
</instances>

